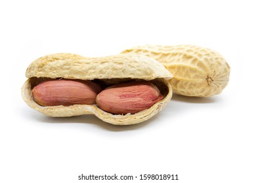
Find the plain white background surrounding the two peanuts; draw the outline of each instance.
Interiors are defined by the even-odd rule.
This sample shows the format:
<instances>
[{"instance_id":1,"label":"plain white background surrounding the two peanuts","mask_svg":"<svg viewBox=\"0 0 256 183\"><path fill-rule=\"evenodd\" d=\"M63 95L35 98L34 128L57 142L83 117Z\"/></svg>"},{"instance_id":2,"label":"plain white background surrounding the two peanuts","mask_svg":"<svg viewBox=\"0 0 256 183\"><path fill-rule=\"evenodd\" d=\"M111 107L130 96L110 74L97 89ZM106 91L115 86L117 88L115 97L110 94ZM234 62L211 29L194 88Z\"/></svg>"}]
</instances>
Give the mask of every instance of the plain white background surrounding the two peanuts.
<instances>
[{"instance_id":1,"label":"plain white background surrounding the two peanuts","mask_svg":"<svg viewBox=\"0 0 256 183\"><path fill-rule=\"evenodd\" d=\"M253 1L0 1L0 182L256 182ZM49 118L20 95L46 54L118 54L144 44L196 44L231 67L221 95L174 95L158 115L115 126L93 115ZM140 174L179 180L142 181ZM106 181L101 181L106 182Z\"/></svg>"}]
</instances>

